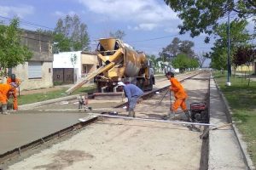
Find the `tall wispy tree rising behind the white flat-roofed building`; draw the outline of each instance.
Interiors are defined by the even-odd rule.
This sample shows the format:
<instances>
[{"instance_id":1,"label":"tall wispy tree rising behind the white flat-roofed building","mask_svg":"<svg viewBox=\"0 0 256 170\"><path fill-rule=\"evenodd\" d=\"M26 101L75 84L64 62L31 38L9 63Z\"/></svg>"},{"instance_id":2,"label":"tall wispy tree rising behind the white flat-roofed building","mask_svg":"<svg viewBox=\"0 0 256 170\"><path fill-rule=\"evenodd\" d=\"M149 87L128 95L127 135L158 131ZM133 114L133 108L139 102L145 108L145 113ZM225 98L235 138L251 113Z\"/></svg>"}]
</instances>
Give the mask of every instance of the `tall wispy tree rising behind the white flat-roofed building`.
<instances>
[{"instance_id":1,"label":"tall wispy tree rising behind the white flat-roofed building","mask_svg":"<svg viewBox=\"0 0 256 170\"><path fill-rule=\"evenodd\" d=\"M87 26L81 23L77 14L67 15L65 19L57 21L54 41L58 42L56 48L61 52L90 49Z\"/></svg>"}]
</instances>

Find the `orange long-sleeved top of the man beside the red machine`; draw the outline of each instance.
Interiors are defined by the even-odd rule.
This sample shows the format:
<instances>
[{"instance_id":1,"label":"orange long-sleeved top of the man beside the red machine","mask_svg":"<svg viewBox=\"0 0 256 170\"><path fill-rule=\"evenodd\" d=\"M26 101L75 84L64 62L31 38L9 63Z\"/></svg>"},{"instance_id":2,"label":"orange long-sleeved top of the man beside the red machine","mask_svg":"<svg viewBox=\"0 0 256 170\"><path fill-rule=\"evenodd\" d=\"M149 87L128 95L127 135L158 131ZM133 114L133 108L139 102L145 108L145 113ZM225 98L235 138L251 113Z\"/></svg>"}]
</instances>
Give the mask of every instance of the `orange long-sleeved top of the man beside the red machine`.
<instances>
[{"instance_id":1,"label":"orange long-sleeved top of the man beside the red machine","mask_svg":"<svg viewBox=\"0 0 256 170\"><path fill-rule=\"evenodd\" d=\"M186 93L183 86L181 85L180 82L177 81L176 78L171 77L170 82L172 85L170 87L170 90L172 90L175 98L177 98L177 99L187 99L188 98L188 94Z\"/></svg>"}]
</instances>

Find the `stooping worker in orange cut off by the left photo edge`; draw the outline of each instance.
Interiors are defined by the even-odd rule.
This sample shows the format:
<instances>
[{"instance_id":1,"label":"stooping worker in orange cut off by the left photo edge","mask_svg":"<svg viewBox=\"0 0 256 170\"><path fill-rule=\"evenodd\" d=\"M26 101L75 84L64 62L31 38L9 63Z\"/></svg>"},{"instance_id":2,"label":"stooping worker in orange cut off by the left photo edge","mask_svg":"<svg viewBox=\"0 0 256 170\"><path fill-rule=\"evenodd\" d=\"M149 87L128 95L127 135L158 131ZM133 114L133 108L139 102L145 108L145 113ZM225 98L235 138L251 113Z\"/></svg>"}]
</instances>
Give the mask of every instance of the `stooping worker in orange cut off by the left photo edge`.
<instances>
[{"instance_id":1,"label":"stooping worker in orange cut off by the left photo edge","mask_svg":"<svg viewBox=\"0 0 256 170\"><path fill-rule=\"evenodd\" d=\"M3 114L8 114L7 112L7 102L9 99L9 93L11 93L15 88L9 84L0 84L0 104L2 104Z\"/></svg>"}]
</instances>

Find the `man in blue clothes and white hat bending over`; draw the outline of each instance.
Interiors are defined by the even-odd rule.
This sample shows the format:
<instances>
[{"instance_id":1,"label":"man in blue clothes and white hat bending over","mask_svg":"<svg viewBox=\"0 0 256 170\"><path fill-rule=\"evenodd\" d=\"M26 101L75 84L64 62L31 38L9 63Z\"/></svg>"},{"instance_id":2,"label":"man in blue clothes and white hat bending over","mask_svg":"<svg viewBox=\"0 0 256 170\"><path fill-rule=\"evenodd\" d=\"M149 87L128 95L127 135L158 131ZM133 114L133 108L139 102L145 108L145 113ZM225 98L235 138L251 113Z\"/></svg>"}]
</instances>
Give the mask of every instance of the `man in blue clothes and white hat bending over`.
<instances>
[{"instance_id":1,"label":"man in blue clothes and white hat bending over","mask_svg":"<svg viewBox=\"0 0 256 170\"><path fill-rule=\"evenodd\" d=\"M135 117L134 108L137 104L137 100L143 95L143 90L134 84L125 84L124 82L118 82L118 86L122 87L125 91L125 97L128 99L128 116Z\"/></svg>"}]
</instances>

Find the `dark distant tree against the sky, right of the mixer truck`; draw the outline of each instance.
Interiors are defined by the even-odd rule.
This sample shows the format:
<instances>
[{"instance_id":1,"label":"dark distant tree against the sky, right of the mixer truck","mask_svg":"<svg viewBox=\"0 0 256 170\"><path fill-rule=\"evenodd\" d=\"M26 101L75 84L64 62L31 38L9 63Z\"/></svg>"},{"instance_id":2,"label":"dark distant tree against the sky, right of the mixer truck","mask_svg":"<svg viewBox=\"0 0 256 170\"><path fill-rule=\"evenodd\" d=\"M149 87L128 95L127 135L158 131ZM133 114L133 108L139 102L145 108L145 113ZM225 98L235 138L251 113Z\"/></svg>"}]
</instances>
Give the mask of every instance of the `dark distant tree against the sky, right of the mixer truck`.
<instances>
[{"instance_id":1,"label":"dark distant tree against the sky, right of the mixer truck","mask_svg":"<svg viewBox=\"0 0 256 170\"><path fill-rule=\"evenodd\" d=\"M174 37L172 42L160 52L160 56L164 61L172 60L177 54L188 54L192 57L194 56L194 51L191 49L193 47L194 42L182 41L178 37Z\"/></svg>"}]
</instances>

